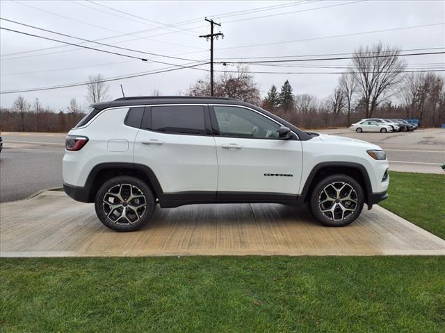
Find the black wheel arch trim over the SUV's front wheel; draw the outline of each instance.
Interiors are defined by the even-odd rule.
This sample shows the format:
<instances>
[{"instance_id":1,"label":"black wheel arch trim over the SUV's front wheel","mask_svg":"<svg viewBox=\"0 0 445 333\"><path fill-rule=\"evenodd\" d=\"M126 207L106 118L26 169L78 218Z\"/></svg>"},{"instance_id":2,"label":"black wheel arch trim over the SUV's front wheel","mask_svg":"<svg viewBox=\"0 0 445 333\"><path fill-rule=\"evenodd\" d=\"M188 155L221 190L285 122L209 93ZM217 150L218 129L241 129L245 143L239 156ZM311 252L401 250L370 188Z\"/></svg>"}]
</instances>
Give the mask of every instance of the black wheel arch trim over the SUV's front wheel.
<instances>
[{"instance_id":1,"label":"black wheel arch trim over the SUV's front wheel","mask_svg":"<svg viewBox=\"0 0 445 333\"><path fill-rule=\"evenodd\" d=\"M364 192L364 202L369 203L369 198L372 195L371 180L368 172L362 164L354 162L321 162L309 173L305 185L301 191L301 198L306 202L309 200L312 189L316 186L318 181L336 174L346 175L354 178L359 182Z\"/></svg>"}]
</instances>

